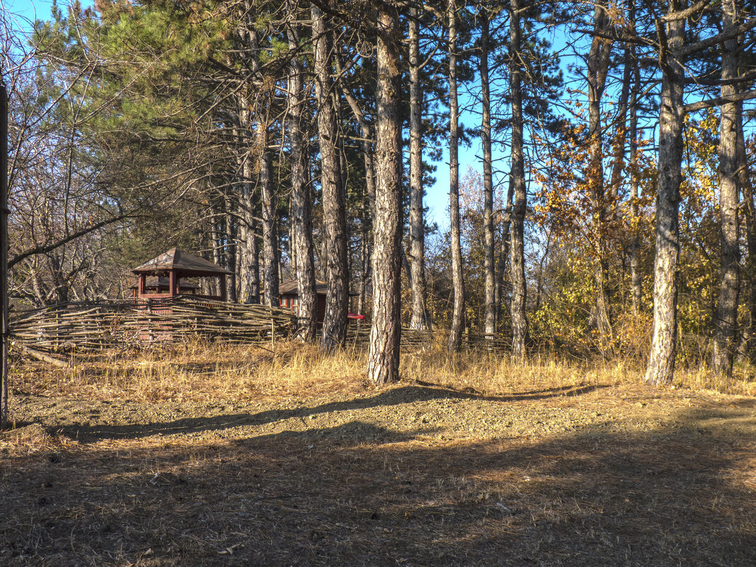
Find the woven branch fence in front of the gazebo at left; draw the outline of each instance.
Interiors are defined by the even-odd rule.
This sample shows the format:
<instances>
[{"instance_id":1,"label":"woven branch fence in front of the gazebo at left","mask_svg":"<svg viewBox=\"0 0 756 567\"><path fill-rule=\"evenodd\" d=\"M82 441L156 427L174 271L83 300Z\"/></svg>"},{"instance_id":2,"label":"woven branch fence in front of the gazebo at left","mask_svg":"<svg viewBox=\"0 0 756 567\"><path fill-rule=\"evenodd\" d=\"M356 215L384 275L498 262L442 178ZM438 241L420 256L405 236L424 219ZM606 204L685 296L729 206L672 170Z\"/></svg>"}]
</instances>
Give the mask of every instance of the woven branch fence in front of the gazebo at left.
<instances>
[{"instance_id":1,"label":"woven branch fence in front of the gazebo at left","mask_svg":"<svg viewBox=\"0 0 756 567\"><path fill-rule=\"evenodd\" d=\"M262 344L290 336L296 318L286 309L193 299L67 303L11 316L11 339L42 352L122 348L190 337Z\"/></svg>"}]
</instances>

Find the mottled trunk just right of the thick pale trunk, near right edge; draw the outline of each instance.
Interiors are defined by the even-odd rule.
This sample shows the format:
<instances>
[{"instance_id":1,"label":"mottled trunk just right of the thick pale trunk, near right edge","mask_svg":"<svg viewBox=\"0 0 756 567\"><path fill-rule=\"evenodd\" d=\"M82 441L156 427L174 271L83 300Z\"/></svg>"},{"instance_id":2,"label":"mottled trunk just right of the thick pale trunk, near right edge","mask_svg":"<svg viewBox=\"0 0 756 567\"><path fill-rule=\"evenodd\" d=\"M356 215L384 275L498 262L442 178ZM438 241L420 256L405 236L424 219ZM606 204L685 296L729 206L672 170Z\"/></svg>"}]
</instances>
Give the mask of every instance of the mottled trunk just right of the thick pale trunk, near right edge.
<instances>
[{"instance_id":1,"label":"mottled trunk just right of the thick pale trunk, near right edge","mask_svg":"<svg viewBox=\"0 0 756 567\"><path fill-rule=\"evenodd\" d=\"M735 0L722 2L722 29L728 33L737 25ZM738 39L722 46L722 81L738 76ZM736 86L722 85L722 98L736 94ZM738 104L729 102L720 107L719 126L719 214L720 269L719 303L714 324L712 367L722 376L733 373L736 330L738 326L738 295L740 290L738 265L740 262L738 218Z\"/></svg>"}]
</instances>

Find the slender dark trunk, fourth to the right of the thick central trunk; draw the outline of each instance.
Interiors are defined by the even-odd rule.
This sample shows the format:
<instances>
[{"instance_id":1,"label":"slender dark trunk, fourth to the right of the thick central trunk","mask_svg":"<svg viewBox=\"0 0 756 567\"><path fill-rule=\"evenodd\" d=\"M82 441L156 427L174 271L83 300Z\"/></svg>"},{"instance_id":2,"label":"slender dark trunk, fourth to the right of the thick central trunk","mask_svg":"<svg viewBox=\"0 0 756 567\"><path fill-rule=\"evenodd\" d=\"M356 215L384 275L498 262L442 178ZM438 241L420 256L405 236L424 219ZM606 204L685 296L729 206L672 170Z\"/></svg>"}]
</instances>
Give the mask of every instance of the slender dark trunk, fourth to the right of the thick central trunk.
<instances>
[{"instance_id":1,"label":"slender dark trunk, fourth to the right of the thick central trunk","mask_svg":"<svg viewBox=\"0 0 756 567\"><path fill-rule=\"evenodd\" d=\"M525 306L528 288L525 283L525 209L527 194L525 192L525 155L523 149L522 117L522 63L520 61L520 4L519 0L510 0L510 104L512 106L512 155L510 175L512 176L514 204L512 208L512 226L510 228L510 280L512 297L510 311L512 315L512 357L515 361L525 358L525 341L528 337L528 319Z\"/></svg>"}]
</instances>

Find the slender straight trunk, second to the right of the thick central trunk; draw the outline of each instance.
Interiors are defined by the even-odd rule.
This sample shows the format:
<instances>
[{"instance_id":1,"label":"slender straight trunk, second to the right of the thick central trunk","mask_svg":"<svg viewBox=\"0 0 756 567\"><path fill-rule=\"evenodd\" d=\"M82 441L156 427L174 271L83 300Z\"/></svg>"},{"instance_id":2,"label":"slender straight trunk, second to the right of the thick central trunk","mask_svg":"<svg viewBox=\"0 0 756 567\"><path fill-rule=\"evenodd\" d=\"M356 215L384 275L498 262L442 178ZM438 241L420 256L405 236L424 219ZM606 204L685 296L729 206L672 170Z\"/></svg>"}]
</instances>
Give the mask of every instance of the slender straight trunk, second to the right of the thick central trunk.
<instances>
[{"instance_id":1,"label":"slender straight trunk, second to the right of the thick central trunk","mask_svg":"<svg viewBox=\"0 0 756 567\"><path fill-rule=\"evenodd\" d=\"M454 311L449 333L450 351L462 344L465 289L462 274L462 245L460 243L460 160L459 106L457 103L457 3L448 0L449 21L449 217L451 220L451 273L454 287Z\"/></svg>"}]
</instances>

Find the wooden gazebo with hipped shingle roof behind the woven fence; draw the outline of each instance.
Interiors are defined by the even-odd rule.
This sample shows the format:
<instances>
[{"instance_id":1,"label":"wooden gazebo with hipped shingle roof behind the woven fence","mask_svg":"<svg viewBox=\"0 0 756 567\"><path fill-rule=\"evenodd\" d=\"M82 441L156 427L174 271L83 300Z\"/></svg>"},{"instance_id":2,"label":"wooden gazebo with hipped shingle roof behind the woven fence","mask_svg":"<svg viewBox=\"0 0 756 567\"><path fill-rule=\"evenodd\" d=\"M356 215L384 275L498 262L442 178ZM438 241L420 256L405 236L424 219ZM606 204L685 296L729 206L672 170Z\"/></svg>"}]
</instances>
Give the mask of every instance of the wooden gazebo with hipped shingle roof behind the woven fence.
<instances>
[{"instance_id":1,"label":"wooden gazebo with hipped shingle roof behind the woven fence","mask_svg":"<svg viewBox=\"0 0 756 567\"><path fill-rule=\"evenodd\" d=\"M230 271L217 264L178 248L172 248L149 262L144 262L132 272L138 276L135 299L166 299L194 288L191 293L196 297L220 301L226 301L226 275L231 274ZM220 280L218 288L221 294L219 296L194 294L196 286L181 283L181 279L187 277L218 277ZM160 285L161 283L163 285Z\"/></svg>"}]
</instances>

